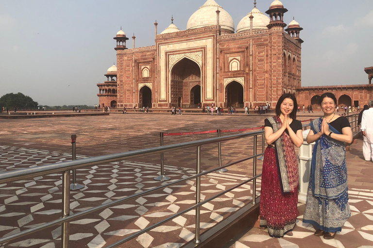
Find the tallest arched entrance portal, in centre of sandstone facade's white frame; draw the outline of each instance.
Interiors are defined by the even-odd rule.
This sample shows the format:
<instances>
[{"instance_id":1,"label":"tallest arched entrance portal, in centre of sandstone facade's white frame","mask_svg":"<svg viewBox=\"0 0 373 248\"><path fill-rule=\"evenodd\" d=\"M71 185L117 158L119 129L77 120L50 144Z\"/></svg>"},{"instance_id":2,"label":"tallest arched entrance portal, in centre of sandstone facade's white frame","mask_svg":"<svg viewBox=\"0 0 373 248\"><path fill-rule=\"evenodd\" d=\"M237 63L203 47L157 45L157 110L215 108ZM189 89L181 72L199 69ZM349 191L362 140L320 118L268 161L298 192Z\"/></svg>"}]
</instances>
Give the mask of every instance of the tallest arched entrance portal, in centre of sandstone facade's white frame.
<instances>
[{"instance_id":1,"label":"tallest arched entrance portal, in centre of sandstone facade's white frame","mask_svg":"<svg viewBox=\"0 0 373 248\"><path fill-rule=\"evenodd\" d=\"M193 108L196 99L196 93L198 90L190 88L190 85L196 85L200 87L199 90L199 102L201 102L201 69L200 66L188 59L184 58L177 62L171 69L170 74L170 102L171 106ZM193 99L191 93L193 91ZM197 94L198 97L198 94ZM186 104L181 106L181 99ZM197 99L198 100L198 99ZM190 104L189 104L190 103ZM198 104L198 103L197 103Z\"/></svg>"}]
</instances>

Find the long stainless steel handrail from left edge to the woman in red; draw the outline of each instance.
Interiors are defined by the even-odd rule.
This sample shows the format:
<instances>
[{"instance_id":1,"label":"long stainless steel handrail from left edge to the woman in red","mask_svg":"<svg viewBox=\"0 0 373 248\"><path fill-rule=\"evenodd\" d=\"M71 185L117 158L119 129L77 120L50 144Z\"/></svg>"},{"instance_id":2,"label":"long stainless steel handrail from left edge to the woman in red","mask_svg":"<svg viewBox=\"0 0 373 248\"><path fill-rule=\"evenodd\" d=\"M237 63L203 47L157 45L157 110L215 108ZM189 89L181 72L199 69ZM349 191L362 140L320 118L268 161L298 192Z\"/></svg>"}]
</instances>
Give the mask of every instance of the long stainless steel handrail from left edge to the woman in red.
<instances>
[{"instance_id":1,"label":"long stainless steel handrail from left edge to the woman in red","mask_svg":"<svg viewBox=\"0 0 373 248\"><path fill-rule=\"evenodd\" d=\"M252 133L230 135L230 136L226 136L226 137L211 138L211 139L206 139L206 140L190 141L190 142L172 144L172 145L167 145L167 146L162 146L162 147L141 149L141 150L137 150L137 151L124 152L124 153L119 153L119 154L114 154L114 155L102 155L102 156L98 156L98 157L85 158L85 159L80 159L80 160L73 160L73 161L62 162L62 163L57 163L57 164L50 164L50 165L45 165L45 166L40 166L40 167L21 169L21 170L17 170L17 171L6 171L6 172L3 172L3 173L0 173L0 183L6 183L6 182L11 182L11 181L18 181L18 180L29 178L29 177L46 175L46 174L51 174L51 173L56 173L56 172L63 172L63 184L62 184L63 185L63 190L62 190L62 192L63 192L63 201L62 201L62 204L63 204L62 212L63 212L63 214L62 215L63 216L62 216L62 218L53 220L51 222L48 222L48 223L46 223L44 225L41 225L41 226L38 226L38 227L34 227L34 228L31 228L31 229L22 231L21 233L13 234L13 235L10 235L10 236L7 236L7 237L2 237L2 238L0 238L0 243L10 241L10 240L13 240L13 239L18 238L18 237L25 236L27 234L35 233L37 231L41 231L43 229L46 229L46 228L49 228L51 226L58 225L58 224L62 223L63 224L62 238L61 238L62 247L63 248L68 248L68 237L69 237L68 222L75 219L75 218L78 218L78 217L81 217L83 215L92 213L94 211L98 211L100 209L104 209L104 208L107 208L107 207L117 205L121 202L125 202L125 201L128 201L128 200L140 197L142 195L149 194L149 193L151 193L155 190L159 190L159 189L162 189L162 188L165 188L165 187L169 187L169 186L172 186L174 184L184 182L186 180L190 180L190 179L194 179L194 178L198 179L205 174L208 174L208 173L211 173L211 172L214 172L214 171L219 171L222 168L229 167L229 166L232 166L234 164L237 164L237 163L249 160L249 159L254 159L254 161L256 161L256 157L260 156L262 154L256 155L256 153L255 153L253 156L240 159L238 161L226 164L224 166L214 168L214 169L211 169L211 170L208 170L208 171L203 171L203 172L197 173L196 175L189 176L187 178L183 178L183 179L180 179L178 181L175 181L175 182L163 185L163 186L158 186L156 188L149 189L147 191L143 191L141 193L134 194L132 196L124 197L122 199L118 199L118 200L113 201L113 202L108 202L108 203L102 204L100 206L92 207L88 210L76 213L76 214L71 215L71 216L68 215L68 213L69 213L70 170L76 170L76 169L80 169L80 168L87 167L87 166L99 165L99 164L102 164L102 163L120 161L120 160L133 158L133 157L138 157L138 156L143 156L143 155L153 155L153 154L159 154L159 153L162 153L162 152L170 152L170 151L189 148L189 147L193 147L193 146L197 146L197 149L199 151L201 151L201 145L211 144L211 143L216 143L216 142L221 142L221 141L227 141L227 140L233 140L233 139L238 139L238 138L244 138L244 137L253 137L253 136L256 137L257 135L261 135L262 133L263 133L263 131L257 131L257 132L252 132ZM199 158L197 160L198 160L197 161L197 171L200 171L201 156L199 156ZM254 175L255 174L256 174L256 171L255 171ZM250 181L253 180L255 182L256 177L259 177L259 176L261 176L261 174L256 175L249 180ZM235 188L235 187L233 187L233 188ZM255 186L253 186L253 201L255 202L256 195L255 195L254 188L255 188ZM192 207L191 209L193 209L193 208L198 209L201 204L203 204L203 203L202 202L196 202L195 207ZM197 216L199 217L200 214L196 214L196 217ZM175 216L175 217L177 217L177 216ZM199 225L199 223L198 223L198 225ZM197 226L197 221L196 221L196 226ZM140 234L138 234L138 235L140 235ZM196 237L197 237L197 233L196 233Z\"/></svg>"}]
</instances>

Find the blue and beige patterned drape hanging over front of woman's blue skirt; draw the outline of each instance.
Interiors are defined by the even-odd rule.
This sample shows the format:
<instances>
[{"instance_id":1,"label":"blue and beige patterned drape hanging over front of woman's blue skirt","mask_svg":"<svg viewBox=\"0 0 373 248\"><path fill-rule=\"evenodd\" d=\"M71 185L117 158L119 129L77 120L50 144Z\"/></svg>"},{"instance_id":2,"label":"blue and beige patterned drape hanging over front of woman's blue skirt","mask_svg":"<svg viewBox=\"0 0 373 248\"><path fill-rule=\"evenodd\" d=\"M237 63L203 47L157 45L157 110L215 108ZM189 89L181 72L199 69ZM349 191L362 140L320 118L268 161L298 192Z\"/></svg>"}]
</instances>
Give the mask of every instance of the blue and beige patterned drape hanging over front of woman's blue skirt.
<instances>
[{"instance_id":1,"label":"blue and beige patterned drape hanging over front of woman's blue skirt","mask_svg":"<svg viewBox=\"0 0 373 248\"><path fill-rule=\"evenodd\" d=\"M313 133L321 130L322 118L311 122ZM333 133L340 134L329 124ZM312 193L316 197L336 199L347 190L346 148L342 141L322 135L313 147L311 164ZM338 202L337 202L338 204Z\"/></svg>"}]
</instances>

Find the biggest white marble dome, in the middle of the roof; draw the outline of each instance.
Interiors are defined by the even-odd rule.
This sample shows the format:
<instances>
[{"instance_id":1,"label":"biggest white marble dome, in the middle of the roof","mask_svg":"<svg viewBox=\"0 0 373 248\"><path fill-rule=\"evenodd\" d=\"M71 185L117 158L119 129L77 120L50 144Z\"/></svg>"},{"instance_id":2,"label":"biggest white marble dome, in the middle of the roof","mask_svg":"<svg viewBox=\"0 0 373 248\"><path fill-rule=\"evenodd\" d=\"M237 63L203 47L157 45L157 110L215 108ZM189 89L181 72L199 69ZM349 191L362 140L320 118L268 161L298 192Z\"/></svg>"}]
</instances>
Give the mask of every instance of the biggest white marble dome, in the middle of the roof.
<instances>
[{"instance_id":1,"label":"biggest white marble dome, in the middle of the roof","mask_svg":"<svg viewBox=\"0 0 373 248\"><path fill-rule=\"evenodd\" d=\"M219 24L222 30L235 32L235 23L232 16L228 14L214 0L207 0L192 16L190 16L186 29L197 29L216 25L216 11L220 10Z\"/></svg>"}]
</instances>

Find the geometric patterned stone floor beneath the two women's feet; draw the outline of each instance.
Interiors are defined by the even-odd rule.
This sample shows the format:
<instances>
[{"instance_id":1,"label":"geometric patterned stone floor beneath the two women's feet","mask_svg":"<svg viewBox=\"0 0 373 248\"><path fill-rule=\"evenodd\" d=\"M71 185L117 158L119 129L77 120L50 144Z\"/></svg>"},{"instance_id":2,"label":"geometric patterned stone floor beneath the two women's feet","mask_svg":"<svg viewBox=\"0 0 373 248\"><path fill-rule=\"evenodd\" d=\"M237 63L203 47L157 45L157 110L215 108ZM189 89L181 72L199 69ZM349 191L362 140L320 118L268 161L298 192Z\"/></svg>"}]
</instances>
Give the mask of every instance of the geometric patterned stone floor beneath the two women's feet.
<instances>
[{"instance_id":1,"label":"geometric patterned stone floor beneath the two women's feet","mask_svg":"<svg viewBox=\"0 0 373 248\"><path fill-rule=\"evenodd\" d=\"M300 216L297 219L293 236L271 238L267 229L255 227L243 231L239 237L224 248L373 248L373 163L364 161L361 155L362 142L351 146L346 154L349 173L349 204L351 217L335 239L325 240L313 235L312 225L303 224L302 217L305 204L298 204ZM357 168L357 169L356 169ZM351 176L350 176L351 175Z\"/></svg>"}]
</instances>

